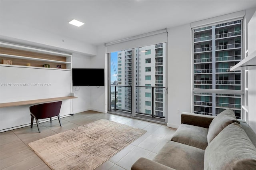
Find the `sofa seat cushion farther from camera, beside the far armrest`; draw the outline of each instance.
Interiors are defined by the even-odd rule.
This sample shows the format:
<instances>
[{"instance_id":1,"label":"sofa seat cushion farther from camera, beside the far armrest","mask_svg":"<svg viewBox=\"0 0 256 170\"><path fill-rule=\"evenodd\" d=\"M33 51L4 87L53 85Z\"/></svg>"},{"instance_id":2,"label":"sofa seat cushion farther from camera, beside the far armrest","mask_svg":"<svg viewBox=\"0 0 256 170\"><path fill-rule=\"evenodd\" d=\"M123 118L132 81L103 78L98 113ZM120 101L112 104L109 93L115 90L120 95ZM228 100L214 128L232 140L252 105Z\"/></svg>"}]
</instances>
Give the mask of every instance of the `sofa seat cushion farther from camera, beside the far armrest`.
<instances>
[{"instance_id":1,"label":"sofa seat cushion farther from camera, beside the far armrest","mask_svg":"<svg viewBox=\"0 0 256 170\"><path fill-rule=\"evenodd\" d=\"M172 141L194 146L205 150L208 128L181 124L172 136Z\"/></svg>"}]
</instances>

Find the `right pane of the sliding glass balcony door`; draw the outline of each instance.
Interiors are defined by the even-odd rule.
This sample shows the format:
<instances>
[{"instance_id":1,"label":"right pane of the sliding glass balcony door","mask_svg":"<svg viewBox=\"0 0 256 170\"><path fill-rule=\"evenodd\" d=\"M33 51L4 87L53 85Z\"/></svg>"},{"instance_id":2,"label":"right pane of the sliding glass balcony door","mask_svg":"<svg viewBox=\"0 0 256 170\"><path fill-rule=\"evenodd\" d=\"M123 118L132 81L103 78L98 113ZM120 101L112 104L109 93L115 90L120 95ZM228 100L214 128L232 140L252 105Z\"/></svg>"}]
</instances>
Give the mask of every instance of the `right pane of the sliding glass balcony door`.
<instances>
[{"instance_id":1,"label":"right pane of the sliding glass balcony door","mask_svg":"<svg viewBox=\"0 0 256 170\"><path fill-rule=\"evenodd\" d=\"M136 114L165 118L166 43L135 49Z\"/></svg>"}]
</instances>

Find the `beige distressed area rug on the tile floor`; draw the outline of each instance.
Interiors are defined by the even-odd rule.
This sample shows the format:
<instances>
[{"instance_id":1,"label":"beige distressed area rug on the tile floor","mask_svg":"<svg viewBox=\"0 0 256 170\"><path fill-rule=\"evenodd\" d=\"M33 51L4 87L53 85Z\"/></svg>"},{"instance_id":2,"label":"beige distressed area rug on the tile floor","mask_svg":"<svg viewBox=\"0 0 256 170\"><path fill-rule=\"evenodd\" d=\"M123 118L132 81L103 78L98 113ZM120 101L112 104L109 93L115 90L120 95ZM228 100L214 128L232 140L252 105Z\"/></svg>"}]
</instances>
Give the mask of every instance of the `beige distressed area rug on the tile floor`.
<instances>
[{"instance_id":1,"label":"beige distressed area rug on the tile floor","mask_svg":"<svg viewBox=\"0 0 256 170\"><path fill-rule=\"evenodd\" d=\"M101 119L28 146L54 170L92 170L145 132Z\"/></svg>"}]
</instances>

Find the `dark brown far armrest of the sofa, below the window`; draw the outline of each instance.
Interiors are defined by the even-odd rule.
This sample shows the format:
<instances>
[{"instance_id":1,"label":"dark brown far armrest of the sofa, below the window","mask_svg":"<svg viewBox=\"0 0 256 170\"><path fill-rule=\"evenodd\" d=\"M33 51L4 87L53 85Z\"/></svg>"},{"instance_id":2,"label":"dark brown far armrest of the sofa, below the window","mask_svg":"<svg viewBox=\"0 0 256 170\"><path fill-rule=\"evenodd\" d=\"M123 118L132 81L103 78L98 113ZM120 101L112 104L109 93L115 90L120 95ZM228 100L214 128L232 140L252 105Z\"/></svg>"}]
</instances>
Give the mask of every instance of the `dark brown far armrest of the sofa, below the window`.
<instances>
[{"instance_id":1,"label":"dark brown far armrest of the sofa, below the window","mask_svg":"<svg viewBox=\"0 0 256 170\"><path fill-rule=\"evenodd\" d=\"M209 128L209 125L212 122L212 119L214 119L214 117L215 116L183 112L181 114L181 123Z\"/></svg>"}]
</instances>

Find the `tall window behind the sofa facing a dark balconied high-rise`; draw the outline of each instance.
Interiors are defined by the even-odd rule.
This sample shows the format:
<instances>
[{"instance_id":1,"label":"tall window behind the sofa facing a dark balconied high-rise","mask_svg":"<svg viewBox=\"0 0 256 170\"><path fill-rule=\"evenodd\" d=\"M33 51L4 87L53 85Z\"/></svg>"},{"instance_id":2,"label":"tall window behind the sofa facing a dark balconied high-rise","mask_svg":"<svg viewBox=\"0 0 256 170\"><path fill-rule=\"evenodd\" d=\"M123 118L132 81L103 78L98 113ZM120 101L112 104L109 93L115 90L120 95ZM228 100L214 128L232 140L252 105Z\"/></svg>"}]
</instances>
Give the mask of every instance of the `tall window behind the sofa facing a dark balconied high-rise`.
<instances>
[{"instance_id":1,"label":"tall window behind the sofa facing a dark balconied high-rise","mask_svg":"<svg viewBox=\"0 0 256 170\"><path fill-rule=\"evenodd\" d=\"M218 115L233 109L242 118L242 72L230 71L243 54L243 20L192 29L194 113Z\"/></svg>"}]
</instances>

